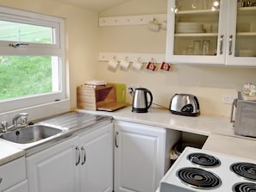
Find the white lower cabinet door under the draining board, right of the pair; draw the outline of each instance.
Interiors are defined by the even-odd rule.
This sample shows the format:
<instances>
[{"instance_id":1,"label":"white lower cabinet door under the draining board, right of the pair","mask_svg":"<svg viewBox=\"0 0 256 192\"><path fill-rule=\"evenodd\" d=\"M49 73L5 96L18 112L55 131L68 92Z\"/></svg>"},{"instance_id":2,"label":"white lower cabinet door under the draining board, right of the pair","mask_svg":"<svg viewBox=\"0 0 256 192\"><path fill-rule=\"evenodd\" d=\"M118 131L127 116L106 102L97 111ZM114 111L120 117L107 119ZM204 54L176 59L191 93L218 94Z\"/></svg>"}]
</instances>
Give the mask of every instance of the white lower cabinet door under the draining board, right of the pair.
<instances>
[{"instance_id":1,"label":"white lower cabinet door under the draining board, right of the pair","mask_svg":"<svg viewBox=\"0 0 256 192\"><path fill-rule=\"evenodd\" d=\"M113 124L79 135L81 192L113 191Z\"/></svg>"}]
</instances>

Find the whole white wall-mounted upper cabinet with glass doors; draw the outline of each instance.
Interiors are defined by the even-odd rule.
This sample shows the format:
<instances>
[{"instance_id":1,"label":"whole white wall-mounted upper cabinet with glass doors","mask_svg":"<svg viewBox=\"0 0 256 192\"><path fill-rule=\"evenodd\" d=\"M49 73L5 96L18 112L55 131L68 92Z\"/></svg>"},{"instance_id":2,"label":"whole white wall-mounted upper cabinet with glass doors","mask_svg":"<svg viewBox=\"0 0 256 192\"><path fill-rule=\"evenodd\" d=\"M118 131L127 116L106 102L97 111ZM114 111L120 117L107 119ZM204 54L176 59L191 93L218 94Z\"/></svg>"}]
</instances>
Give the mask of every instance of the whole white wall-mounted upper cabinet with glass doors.
<instances>
[{"instance_id":1,"label":"whole white wall-mounted upper cabinet with glass doors","mask_svg":"<svg viewBox=\"0 0 256 192\"><path fill-rule=\"evenodd\" d=\"M256 3L168 0L166 60L256 66Z\"/></svg>"}]
</instances>

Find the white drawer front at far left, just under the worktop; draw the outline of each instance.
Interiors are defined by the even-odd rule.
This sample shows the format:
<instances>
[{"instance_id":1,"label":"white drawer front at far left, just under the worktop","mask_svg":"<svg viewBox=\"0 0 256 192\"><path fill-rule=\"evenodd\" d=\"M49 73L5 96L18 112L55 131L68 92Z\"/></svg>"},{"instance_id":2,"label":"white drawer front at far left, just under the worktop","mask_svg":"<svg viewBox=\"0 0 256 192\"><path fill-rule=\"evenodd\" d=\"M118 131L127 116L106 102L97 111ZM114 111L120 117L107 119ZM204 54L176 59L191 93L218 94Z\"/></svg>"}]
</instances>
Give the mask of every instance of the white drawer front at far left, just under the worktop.
<instances>
[{"instance_id":1,"label":"white drawer front at far left, just under the worktop","mask_svg":"<svg viewBox=\"0 0 256 192\"><path fill-rule=\"evenodd\" d=\"M0 166L0 191L26 179L25 158L18 158Z\"/></svg>"}]
</instances>

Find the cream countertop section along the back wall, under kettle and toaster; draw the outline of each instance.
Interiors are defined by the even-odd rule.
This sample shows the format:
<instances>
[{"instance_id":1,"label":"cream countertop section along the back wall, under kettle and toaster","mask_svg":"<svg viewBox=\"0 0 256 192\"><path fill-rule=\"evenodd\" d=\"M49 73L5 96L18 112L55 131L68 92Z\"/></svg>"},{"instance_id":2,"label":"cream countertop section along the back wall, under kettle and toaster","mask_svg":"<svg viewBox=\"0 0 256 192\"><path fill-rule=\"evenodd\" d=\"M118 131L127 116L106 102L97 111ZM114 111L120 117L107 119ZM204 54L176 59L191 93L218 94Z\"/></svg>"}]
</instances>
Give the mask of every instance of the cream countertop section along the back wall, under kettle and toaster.
<instances>
[{"instance_id":1,"label":"cream countertop section along the back wall, under kettle and toaster","mask_svg":"<svg viewBox=\"0 0 256 192\"><path fill-rule=\"evenodd\" d=\"M173 115L169 110L152 108L148 113L133 113L131 107L113 112L82 110L95 115L110 115L116 120L131 121L156 127L172 128L178 131L209 135L220 133L234 136L232 123L228 118L212 116L183 116Z\"/></svg>"}]
</instances>

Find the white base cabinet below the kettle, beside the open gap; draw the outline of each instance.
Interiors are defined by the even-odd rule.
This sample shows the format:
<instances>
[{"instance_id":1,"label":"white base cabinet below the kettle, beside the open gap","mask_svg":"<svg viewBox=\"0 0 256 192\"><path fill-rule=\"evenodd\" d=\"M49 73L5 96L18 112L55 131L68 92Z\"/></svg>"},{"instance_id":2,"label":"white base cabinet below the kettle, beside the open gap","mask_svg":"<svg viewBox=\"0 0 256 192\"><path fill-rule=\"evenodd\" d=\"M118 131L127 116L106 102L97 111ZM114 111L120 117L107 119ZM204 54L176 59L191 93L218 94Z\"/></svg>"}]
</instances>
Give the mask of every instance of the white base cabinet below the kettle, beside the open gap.
<instances>
[{"instance_id":1,"label":"white base cabinet below the kettle, beside the open gap","mask_svg":"<svg viewBox=\"0 0 256 192\"><path fill-rule=\"evenodd\" d=\"M115 121L114 127L115 192L154 192L168 169L178 132L169 137L165 128L125 121Z\"/></svg>"}]
</instances>

